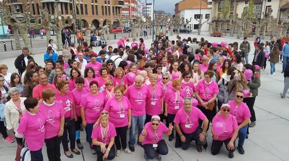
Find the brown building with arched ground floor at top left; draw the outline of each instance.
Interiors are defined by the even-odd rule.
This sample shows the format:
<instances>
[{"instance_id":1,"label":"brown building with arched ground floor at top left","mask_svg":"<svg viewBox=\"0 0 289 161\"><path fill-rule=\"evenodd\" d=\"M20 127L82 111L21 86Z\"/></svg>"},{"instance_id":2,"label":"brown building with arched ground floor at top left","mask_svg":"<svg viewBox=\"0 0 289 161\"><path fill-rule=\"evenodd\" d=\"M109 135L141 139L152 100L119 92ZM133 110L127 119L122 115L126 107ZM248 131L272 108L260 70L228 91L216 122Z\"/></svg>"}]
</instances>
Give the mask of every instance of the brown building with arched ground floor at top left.
<instances>
[{"instance_id":1,"label":"brown building with arched ground floor at top left","mask_svg":"<svg viewBox=\"0 0 289 161\"><path fill-rule=\"evenodd\" d=\"M71 16L73 11L73 1L60 0L55 6L55 0L10 0L14 4L17 12L23 12L24 5L27 4L33 11L33 15L40 16L39 7L42 3L43 8L47 8L50 15ZM120 17L122 16L121 8L124 7L123 0L75 0L76 18L82 21L82 27L88 27L90 24L99 28L100 25L106 25L110 20L111 27L121 26ZM79 9L80 8L80 12Z\"/></svg>"}]
</instances>

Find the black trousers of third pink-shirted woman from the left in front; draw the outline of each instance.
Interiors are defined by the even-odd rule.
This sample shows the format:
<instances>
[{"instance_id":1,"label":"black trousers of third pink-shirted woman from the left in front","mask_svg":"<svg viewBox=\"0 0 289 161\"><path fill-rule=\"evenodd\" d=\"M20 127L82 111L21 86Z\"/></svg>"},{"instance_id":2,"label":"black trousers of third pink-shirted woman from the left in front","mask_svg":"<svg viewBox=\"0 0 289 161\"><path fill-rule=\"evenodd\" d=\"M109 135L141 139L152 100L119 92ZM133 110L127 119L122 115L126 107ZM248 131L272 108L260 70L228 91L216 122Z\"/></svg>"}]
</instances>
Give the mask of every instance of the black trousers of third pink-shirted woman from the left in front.
<instances>
[{"instance_id":1,"label":"black trousers of third pink-shirted woman from the left in front","mask_svg":"<svg viewBox=\"0 0 289 161\"><path fill-rule=\"evenodd\" d=\"M70 124L68 126L64 126L63 135L61 137L61 142L64 151L69 151L68 142L67 142L67 132L70 140L70 149L75 149L75 123L74 119L70 120Z\"/></svg>"}]
</instances>

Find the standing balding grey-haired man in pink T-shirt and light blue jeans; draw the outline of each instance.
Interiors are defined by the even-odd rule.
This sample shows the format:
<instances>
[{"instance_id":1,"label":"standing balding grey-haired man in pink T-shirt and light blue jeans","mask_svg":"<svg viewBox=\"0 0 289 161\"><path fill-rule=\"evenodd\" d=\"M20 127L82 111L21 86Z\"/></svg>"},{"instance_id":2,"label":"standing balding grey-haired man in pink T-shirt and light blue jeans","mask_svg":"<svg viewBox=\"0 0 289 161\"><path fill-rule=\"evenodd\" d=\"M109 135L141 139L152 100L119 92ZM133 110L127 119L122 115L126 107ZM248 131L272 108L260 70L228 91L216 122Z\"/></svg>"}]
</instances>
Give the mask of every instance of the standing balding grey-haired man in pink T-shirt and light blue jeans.
<instances>
[{"instance_id":1,"label":"standing balding grey-haired man in pink T-shirt and light blue jeans","mask_svg":"<svg viewBox=\"0 0 289 161\"><path fill-rule=\"evenodd\" d=\"M135 78L135 84L130 86L127 89L126 97L130 100L131 103L131 111L132 111L132 118L131 118L131 130L130 130L130 139L129 139L129 148L131 151L135 151L134 144L135 144L135 128L138 126L138 136L141 134L146 113L146 98L148 97L148 90L147 86L144 86L144 77L141 75L137 75ZM138 141L138 144L141 143Z\"/></svg>"}]
</instances>

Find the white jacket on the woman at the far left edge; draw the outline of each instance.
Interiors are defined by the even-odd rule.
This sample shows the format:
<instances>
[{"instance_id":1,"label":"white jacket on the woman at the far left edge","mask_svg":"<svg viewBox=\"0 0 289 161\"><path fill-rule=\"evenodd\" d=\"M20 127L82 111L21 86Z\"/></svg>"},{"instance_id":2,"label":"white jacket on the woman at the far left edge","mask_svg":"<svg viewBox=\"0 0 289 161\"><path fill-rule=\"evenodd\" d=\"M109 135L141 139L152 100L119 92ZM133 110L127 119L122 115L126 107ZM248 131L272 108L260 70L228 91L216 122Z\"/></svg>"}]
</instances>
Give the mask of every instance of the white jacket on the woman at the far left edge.
<instances>
[{"instance_id":1,"label":"white jacket on the woman at the far left edge","mask_svg":"<svg viewBox=\"0 0 289 161\"><path fill-rule=\"evenodd\" d=\"M25 97L20 97L20 108L21 108L22 115L26 111L26 108L24 106L24 100L26 100ZM13 131L16 132L19 126L19 121L20 121L19 111L16 105L14 104L14 102L12 101L12 99L5 104L4 111L5 111L5 118L6 118L6 123L7 123L6 128L8 130L13 129Z\"/></svg>"}]
</instances>

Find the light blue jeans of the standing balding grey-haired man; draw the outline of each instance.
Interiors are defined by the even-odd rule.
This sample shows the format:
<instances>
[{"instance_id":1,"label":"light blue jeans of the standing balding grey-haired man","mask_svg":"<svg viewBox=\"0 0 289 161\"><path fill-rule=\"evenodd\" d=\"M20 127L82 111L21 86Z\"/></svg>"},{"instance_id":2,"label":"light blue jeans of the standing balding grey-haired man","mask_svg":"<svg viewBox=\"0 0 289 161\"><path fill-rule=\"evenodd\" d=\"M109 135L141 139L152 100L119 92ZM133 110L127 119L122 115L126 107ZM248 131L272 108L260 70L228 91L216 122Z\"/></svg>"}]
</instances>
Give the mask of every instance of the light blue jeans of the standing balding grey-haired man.
<instances>
[{"instance_id":1,"label":"light blue jeans of the standing balding grey-haired man","mask_svg":"<svg viewBox=\"0 0 289 161\"><path fill-rule=\"evenodd\" d=\"M136 126L138 126L138 136L139 136L143 130L145 118L146 118L146 115L132 116L132 124L131 124L130 139L129 139L129 146L130 147L134 146L134 144L136 142L136 136L135 136Z\"/></svg>"}]
</instances>

